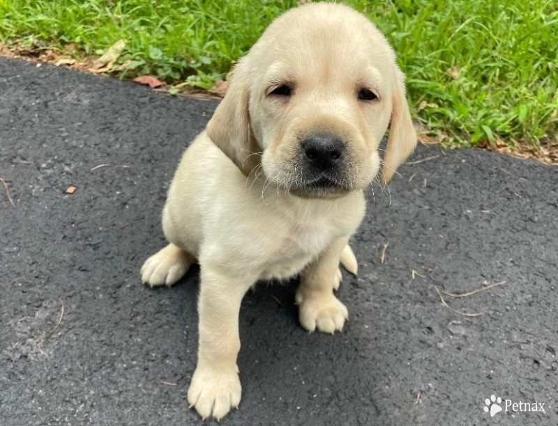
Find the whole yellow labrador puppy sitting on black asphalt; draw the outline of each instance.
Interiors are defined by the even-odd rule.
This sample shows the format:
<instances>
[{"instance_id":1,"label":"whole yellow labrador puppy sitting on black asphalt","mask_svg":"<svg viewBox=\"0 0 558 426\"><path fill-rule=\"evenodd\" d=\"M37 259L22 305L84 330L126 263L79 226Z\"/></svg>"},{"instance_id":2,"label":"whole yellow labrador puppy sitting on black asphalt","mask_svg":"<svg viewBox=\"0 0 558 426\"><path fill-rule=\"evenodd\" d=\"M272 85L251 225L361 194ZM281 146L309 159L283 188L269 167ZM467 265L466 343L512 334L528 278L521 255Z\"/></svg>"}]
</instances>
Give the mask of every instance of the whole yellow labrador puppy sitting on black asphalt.
<instances>
[{"instance_id":1,"label":"whole yellow labrador puppy sitting on black asphalt","mask_svg":"<svg viewBox=\"0 0 558 426\"><path fill-rule=\"evenodd\" d=\"M241 400L239 309L256 281L300 274L302 326L342 329L347 308L333 291L340 262L356 273L347 243L379 173L378 145L389 127L385 184L416 144L403 79L384 36L335 3L289 10L234 68L169 188L169 244L142 267L144 283L170 286L199 262L188 402L202 418Z\"/></svg>"}]
</instances>

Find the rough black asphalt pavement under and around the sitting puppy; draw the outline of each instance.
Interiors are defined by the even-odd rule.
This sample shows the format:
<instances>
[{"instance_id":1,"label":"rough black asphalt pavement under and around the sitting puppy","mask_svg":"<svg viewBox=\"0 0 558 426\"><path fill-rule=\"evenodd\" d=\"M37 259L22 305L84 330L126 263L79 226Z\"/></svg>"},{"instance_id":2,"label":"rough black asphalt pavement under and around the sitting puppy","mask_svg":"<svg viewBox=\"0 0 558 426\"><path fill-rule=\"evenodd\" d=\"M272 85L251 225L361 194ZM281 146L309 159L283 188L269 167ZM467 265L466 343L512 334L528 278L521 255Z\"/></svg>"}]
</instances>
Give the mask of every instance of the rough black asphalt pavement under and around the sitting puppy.
<instances>
[{"instance_id":1,"label":"rough black asphalt pavement under and around the sitting puppy","mask_svg":"<svg viewBox=\"0 0 558 426\"><path fill-rule=\"evenodd\" d=\"M199 269L151 289L140 267L165 244L165 191L216 105L0 58L15 205L0 184L1 426L202 424L185 400ZM223 425L558 424L558 168L437 146L413 162L369 191L342 333L301 328L296 283L246 296L243 398ZM476 317L435 290L502 281L444 295Z\"/></svg>"}]
</instances>

